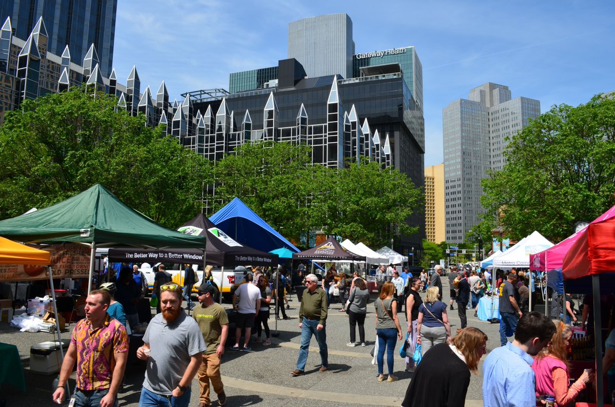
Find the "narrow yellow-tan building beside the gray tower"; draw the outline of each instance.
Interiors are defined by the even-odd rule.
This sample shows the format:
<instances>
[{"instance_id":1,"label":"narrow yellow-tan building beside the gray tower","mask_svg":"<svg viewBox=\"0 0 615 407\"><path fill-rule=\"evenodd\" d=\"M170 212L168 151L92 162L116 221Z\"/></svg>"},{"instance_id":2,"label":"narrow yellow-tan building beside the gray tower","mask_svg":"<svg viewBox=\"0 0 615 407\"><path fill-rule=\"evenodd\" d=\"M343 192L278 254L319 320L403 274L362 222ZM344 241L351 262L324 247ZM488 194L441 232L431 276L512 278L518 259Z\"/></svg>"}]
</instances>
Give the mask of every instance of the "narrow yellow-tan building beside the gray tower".
<instances>
[{"instance_id":1,"label":"narrow yellow-tan building beside the gray tower","mask_svg":"<svg viewBox=\"0 0 615 407\"><path fill-rule=\"evenodd\" d=\"M446 240L444 229L444 164L425 167L425 234L427 240Z\"/></svg>"}]
</instances>

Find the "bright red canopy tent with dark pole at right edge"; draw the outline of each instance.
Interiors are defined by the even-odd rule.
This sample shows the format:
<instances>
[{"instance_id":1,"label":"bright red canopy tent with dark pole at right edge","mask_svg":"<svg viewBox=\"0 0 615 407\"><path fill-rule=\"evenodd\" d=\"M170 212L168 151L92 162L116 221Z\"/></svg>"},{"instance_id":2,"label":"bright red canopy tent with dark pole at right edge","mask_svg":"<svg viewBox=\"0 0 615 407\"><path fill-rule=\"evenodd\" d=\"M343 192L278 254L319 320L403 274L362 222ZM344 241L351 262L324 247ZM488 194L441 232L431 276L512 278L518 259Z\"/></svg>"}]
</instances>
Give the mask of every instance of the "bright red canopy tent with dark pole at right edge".
<instances>
[{"instance_id":1,"label":"bright red canopy tent with dark pole at right edge","mask_svg":"<svg viewBox=\"0 0 615 407\"><path fill-rule=\"evenodd\" d=\"M598 407L604 405L604 382L601 344L600 275L615 271L615 206L598 216L581 231L579 238L571 245L563 261L562 273L565 279L579 279L592 276L594 338L596 354L596 381ZM603 286L603 292L614 291L613 286Z\"/></svg>"}]
</instances>

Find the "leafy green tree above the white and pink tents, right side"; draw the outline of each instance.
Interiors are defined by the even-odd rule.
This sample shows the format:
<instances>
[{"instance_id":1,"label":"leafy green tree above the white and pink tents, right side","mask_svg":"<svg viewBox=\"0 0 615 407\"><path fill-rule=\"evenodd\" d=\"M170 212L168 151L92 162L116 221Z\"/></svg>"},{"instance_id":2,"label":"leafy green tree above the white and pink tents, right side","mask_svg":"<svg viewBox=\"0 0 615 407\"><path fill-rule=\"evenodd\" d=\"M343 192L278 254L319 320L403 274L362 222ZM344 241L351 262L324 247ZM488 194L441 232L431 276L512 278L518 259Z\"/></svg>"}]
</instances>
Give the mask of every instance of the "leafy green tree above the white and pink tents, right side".
<instances>
[{"instance_id":1,"label":"leafy green tree above the white and pink tents, right side","mask_svg":"<svg viewBox=\"0 0 615 407\"><path fill-rule=\"evenodd\" d=\"M507 164L483 180L482 204L507 237L555 242L615 204L615 100L554 106L512 137Z\"/></svg>"}]
</instances>

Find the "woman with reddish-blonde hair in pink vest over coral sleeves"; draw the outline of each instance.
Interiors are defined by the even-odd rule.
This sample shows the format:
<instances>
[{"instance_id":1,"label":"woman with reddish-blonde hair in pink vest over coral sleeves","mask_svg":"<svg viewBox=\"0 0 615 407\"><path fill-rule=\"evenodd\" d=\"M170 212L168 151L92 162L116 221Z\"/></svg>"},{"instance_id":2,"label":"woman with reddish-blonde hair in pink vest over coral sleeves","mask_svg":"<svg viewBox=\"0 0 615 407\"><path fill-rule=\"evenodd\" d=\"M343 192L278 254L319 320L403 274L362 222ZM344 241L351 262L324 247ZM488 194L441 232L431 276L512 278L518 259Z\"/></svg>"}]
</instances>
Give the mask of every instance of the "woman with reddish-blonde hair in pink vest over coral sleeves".
<instances>
[{"instance_id":1,"label":"woman with reddish-blonde hair in pink vest over coral sleeves","mask_svg":"<svg viewBox=\"0 0 615 407\"><path fill-rule=\"evenodd\" d=\"M590 381L593 381L595 373L584 371L581 377L568 387L568 346L573 337L570 325L563 322L555 322L555 334L549 342L549 346L542 348L532 363L532 369L536 375L536 395L553 394L558 406L572 403L579 393L585 389Z\"/></svg>"}]
</instances>

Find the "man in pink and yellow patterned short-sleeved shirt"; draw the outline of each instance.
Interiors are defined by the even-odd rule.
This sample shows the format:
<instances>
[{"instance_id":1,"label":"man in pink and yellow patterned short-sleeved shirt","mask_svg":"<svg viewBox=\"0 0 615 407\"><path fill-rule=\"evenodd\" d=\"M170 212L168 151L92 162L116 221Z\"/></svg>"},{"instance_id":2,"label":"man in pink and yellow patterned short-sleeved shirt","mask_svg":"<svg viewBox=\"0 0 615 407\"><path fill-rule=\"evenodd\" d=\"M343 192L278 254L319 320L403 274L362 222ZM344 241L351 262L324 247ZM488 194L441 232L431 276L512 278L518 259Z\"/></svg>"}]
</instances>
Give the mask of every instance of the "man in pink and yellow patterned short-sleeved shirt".
<instances>
[{"instance_id":1,"label":"man in pink and yellow patterned short-sleeved shirt","mask_svg":"<svg viewBox=\"0 0 615 407\"><path fill-rule=\"evenodd\" d=\"M73 407L117 406L117 389L124 376L128 335L119 321L109 317L111 297L94 290L85 299L85 318L77 322L60 370L53 399L62 403L66 381L77 362Z\"/></svg>"}]
</instances>

